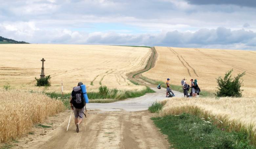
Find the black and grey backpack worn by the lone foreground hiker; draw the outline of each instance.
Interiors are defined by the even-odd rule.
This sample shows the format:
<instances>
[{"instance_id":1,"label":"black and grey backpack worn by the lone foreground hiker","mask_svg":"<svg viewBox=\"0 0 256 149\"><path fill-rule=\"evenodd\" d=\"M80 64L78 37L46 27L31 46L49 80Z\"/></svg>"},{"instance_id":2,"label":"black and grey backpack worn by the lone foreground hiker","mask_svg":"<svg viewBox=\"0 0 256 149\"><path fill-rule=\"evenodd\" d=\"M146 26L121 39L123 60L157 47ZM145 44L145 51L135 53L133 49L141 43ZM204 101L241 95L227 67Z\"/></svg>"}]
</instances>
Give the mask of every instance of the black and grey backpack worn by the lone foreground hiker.
<instances>
[{"instance_id":1,"label":"black and grey backpack worn by the lone foreground hiker","mask_svg":"<svg viewBox=\"0 0 256 149\"><path fill-rule=\"evenodd\" d=\"M83 93L81 90L80 86L76 86L73 88L73 95L72 95L72 100L73 100L73 105L75 108L81 109L84 107L84 100L83 100Z\"/></svg>"}]
</instances>

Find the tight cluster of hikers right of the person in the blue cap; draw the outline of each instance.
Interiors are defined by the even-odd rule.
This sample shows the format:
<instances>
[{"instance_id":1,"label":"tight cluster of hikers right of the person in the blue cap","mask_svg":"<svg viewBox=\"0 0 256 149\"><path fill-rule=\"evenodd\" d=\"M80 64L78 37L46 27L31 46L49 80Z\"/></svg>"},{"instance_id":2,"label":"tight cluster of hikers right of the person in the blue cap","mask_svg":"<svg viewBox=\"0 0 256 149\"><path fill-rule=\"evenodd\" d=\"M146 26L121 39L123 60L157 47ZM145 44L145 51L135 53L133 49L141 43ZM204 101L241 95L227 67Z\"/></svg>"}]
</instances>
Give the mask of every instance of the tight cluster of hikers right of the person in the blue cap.
<instances>
[{"instance_id":1,"label":"tight cluster of hikers right of the person in the blue cap","mask_svg":"<svg viewBox=\"0 0 256 149\"><path fill-rule=\"evenodd\" d=\"M184 93L184 97L196 97L197 95L199 95L199 93L201 92L199 86L198 86L198 82L197 79L195 79L195 81L193 79L190 79L191 84L187 84L186 79L182 79L181 80L181 85L183 88L183 93ZM191 92L188 95L188 91L191 88Z\"/></svg>"}]
</instances>

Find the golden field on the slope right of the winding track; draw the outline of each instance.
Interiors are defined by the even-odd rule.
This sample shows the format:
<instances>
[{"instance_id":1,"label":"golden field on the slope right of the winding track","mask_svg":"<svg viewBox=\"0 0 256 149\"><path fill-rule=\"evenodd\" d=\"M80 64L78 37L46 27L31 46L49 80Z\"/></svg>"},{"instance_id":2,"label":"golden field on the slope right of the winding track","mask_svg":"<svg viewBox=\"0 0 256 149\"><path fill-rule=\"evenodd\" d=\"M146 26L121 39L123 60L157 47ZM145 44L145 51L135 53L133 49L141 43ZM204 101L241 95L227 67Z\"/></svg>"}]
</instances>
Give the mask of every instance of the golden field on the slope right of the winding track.
<instances>
[{"instance_id":1,"label":"golden field on the slope right of the winding track","mask_svg":"<svg viewBox=\"0 0 256 149\"><path fill-rule=\"evenodd\" d=\"M171 84L181 85L181 79L197 79L201 90L214 92L216 78L234 69L232 76L246 72L244 97L256 96L256 52L245 50L155 47L155 67L142 75L157 81L170 78Z\"/></svg>"}]
</instances>

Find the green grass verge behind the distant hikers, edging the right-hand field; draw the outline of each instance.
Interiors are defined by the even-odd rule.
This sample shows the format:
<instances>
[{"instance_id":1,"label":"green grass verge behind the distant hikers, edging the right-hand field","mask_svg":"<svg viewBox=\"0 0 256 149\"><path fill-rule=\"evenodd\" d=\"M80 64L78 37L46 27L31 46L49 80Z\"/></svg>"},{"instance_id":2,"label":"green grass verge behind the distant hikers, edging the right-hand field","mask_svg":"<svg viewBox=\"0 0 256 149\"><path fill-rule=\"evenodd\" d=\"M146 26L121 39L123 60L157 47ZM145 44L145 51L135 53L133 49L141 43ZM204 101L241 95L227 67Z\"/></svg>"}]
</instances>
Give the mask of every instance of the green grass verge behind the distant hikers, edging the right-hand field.
<instances>
[{"instance_id":1,"label":"green grass verge behind the distant hikers, edging the right-hand field","mask_svg":"<svg viewBox=\"0 0 256 149\"><path fill-rule=\"evenodd\" d=\"M164 88L167 87L166 84L164 82L162 82L162 81L152 80L152 79L149 79L149 78L144 77L142 75L139 78L144 80L144 81L146 81L146 82L148 82L148 83L151 83L151 84L156 84L156 85L161 84L161 87L164 87ZM172 90L179 91L179 92L183 93L181 85L170 84L170 86L171 86ZM214 93L213 92L209 92L209 91L201 91L200 95L202 97L214 97Z\"/></svg>"}]
</instances>

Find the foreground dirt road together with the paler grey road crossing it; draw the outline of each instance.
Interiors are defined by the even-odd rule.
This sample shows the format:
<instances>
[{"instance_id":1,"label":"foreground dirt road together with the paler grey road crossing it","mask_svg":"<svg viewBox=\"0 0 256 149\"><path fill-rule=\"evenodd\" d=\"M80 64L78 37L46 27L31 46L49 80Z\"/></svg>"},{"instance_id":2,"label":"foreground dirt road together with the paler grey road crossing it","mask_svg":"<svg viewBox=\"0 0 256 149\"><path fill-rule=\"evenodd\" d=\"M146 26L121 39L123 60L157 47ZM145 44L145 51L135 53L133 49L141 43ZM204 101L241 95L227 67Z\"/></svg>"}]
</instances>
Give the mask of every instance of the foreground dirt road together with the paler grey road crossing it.
<instances>
[{"instance_id":1,"label":"foreground dirt road together with the paler grey road crossing it","mask_svg":"<svg viewBox=\"0 0 256 149\"><path fill-rule=\"evenodd\" d=\"M72 122L67 129L70 111L49 118L44 125L51 128L33 128L33 134L14 143L14 148L28 149L165 149L166 138L150 119L148 106L156 100L164 100L164 89L154 89L139 98L113 103L90 103L87 118L80 125L79 133ZM182 96L175 92L176 96ZM144 110L144 111L142 111ZM50 125L51 126L51 125Z\"/></svg>"}]
</instances>

